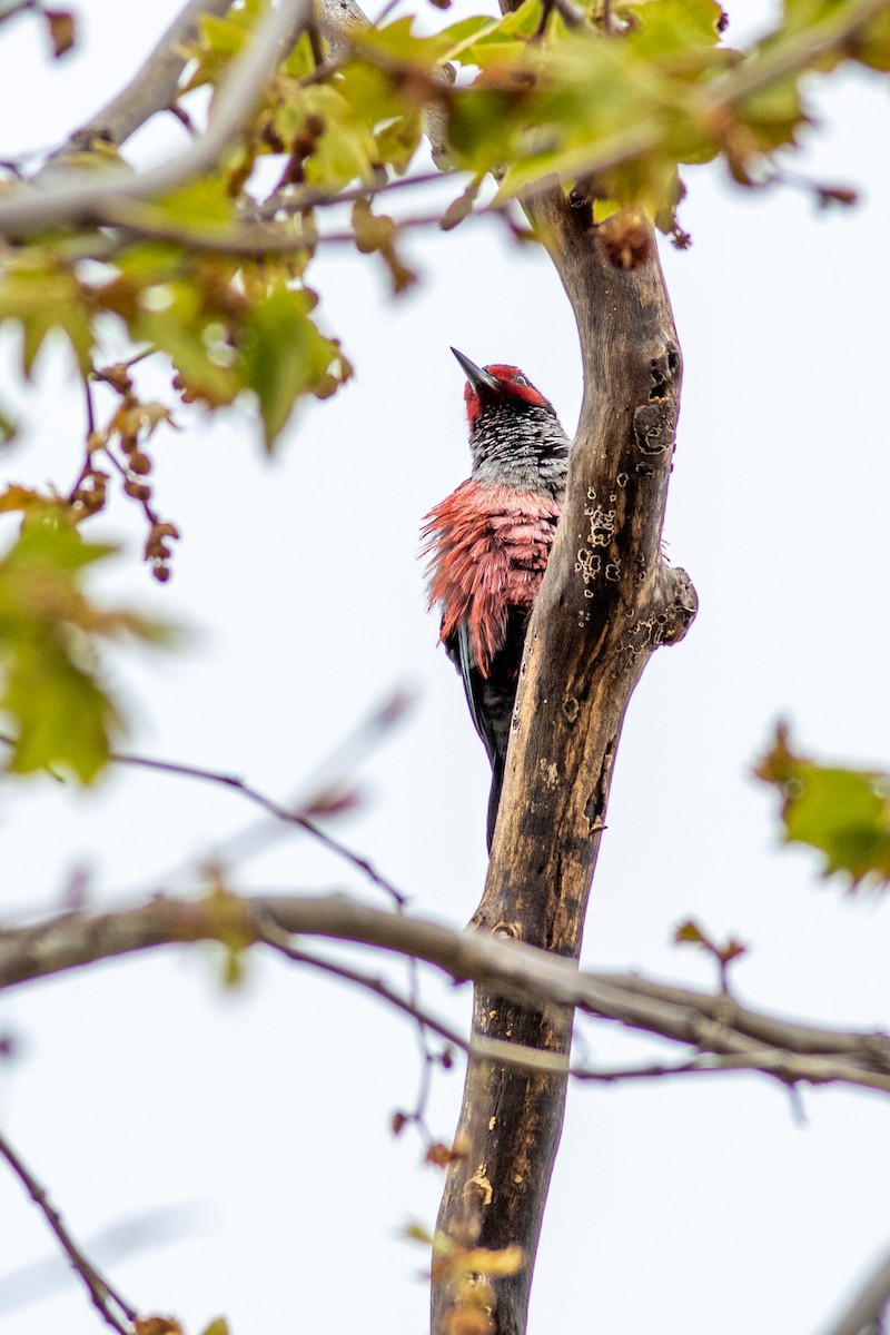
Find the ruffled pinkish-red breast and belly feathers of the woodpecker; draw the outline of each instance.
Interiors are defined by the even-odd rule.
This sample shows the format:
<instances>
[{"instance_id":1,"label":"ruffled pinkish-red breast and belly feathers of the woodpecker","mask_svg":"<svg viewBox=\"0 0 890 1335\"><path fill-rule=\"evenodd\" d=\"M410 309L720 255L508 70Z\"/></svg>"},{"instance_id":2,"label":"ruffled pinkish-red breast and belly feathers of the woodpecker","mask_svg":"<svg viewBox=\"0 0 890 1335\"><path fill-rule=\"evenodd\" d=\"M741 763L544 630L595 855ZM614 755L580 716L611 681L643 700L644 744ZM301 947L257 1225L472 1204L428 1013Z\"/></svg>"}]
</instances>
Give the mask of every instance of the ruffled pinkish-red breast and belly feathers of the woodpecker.
<instances>
[{"instance_id":1,"label":"ruffled pinkish-red breast and belly feathers of the woodpecker","mask_svg":"<svg viewBox=\"0 0 890 1335\"><path fill-rule=\"evenodd\" d=\"M504 645L510 610L531 610L558 518L551 497L472 479L426 517L430 606L442 605L440 638L466 622L483 677Z\"/></svg>"}]
</instances>

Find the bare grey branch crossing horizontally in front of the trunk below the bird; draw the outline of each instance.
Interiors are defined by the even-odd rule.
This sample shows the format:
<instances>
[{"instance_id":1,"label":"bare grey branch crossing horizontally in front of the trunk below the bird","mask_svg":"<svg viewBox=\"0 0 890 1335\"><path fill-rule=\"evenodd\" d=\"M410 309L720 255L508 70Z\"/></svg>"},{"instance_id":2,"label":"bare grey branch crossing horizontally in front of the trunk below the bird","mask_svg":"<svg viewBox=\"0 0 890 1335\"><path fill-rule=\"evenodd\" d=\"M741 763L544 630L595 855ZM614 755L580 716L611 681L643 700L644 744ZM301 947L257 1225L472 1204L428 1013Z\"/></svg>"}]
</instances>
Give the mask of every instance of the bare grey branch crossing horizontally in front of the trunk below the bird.
<instances>
[{"instance_id":1,"label":"bare grey branch crossing horizontally in front of the trunk below the bird","mask_svg":"<svg viewBox=\"0 0 890 1335\"><path fill-rule=\"evenodd\" d=\"M346 894L232 894L226 897L224 908L212 896L200 901L157 897L133 909L65 913L7 928L0 930L0 989L159 945L231 945L238 939L248 947L268 941L270 920L288 934L378 947L422 960L455 983L472 981L526 1004L534 1000L539 1009L548 1004L579 1007L602 1020L697 1049L682 1067L588 1072L587 1079L758 1071L785 1084L838 1083L890 1093L890 1039L883 1033L798 1024L751 1011L725 992L703 993L631 975L582 972L571 960L492 932L458 930L430 918L375 909ZM443 1037L455 1041L451 1033ZM516 1047L474 1036L470 1055L503 1060ZM516 1056L516 1065L568 1073L566 1057L559 1053L544 1053L538 1061L519 1045ZM583 1068L579 1075L584 1075Z\"/></svg>"}]
</instances>

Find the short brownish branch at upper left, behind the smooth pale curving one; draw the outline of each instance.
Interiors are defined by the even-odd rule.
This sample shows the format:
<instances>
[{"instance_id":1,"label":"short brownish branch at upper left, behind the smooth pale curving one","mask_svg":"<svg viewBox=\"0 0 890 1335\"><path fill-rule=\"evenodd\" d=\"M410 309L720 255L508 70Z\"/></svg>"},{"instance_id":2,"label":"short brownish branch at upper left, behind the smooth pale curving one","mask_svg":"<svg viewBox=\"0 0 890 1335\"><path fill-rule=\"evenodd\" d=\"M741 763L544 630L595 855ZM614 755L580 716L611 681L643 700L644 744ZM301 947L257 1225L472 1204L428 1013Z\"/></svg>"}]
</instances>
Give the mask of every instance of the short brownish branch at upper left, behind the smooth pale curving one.
<instances>
[{"instance_id":1,"label":"short brownish branch at upper left, behind the smooth pale curving one","mask_svg":"<svg viewBox=\"0 0 890 1335\"><path fill-rule=\"evenodd\" d=\"M200 15L223 15L231 7L232 0L188 0L127 87L85 125L75 129L52 158L88 148L95 139L120 147L152 116L171 109L179 76L187 64L181 48L197 36Z\"/></svg>"}]
</instances>

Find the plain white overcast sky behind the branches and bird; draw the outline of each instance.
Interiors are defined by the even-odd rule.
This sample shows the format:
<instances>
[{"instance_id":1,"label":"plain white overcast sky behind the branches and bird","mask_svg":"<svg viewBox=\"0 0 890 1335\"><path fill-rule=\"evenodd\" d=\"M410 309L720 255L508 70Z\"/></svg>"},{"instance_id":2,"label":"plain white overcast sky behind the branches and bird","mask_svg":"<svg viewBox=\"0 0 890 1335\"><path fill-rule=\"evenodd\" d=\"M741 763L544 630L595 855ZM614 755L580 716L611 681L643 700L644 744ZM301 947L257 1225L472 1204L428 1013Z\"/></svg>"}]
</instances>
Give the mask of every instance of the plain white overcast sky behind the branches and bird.
<instances>
[{"instance_id":1,"label":"plain white overcast sky behind the branches and bird","mask_svg":"<svg viewBox=\"0 0 890 1335\"><path fill-rule=\"evenodd\" d=\"M83 45L59 65L36 20L5 25L0 156L85 119L175 8L85 0ZM814 856L781 850L774 801L750 778L778 716L818 754L890 765L886 88L845 76L819 105L822 134L798 170L859 186L858 210L819 215L803 195L753 198L702 170L683 211L695 244L664 251L686 359L666 538L701 611L631 702L584 960L707 987L706 961L670 944L694 914L751 944L735 971L745 1001L870 1029L889 1023L887 909L845 900ZM116 659L135 749L283 798L388 689L418 690L407 725L363 766L367 805L336 833L419 912L459 925L484 877L487 765L416 562L422 515L468 467L448 344L520 364L570 430L579 360L543 254L511 247L494 223L408 250L424 283L395 304L367 260L318 264L323 319L358 375L300 413L274 463L239 414L183 414L183 433L159 435L156 503L183 531L165 589L139 566L135 513L115 507L101 531L131 554L109 593L201 631L179 657ZM63 359L44 363L24 410L8 478L72 478L83 409ZM133 901L255 820L236 796L144 774L85 797L45 780L1 797L8 913L52 908L81 865L96 902ZM306 840L236 877L379 901ZM175 1312L189 1332L223 1312L235 1335L416 1335L426 1258L398 1232L408 1219L432 1226L440 1179L419 1165L416 1139L387 1129L414 1100L412 1029L274 961L252 961L236 995L217 977L211 952L167 952L8 993L0 1032L21 1055L0 1068L0 1125L84 1243L200 1206L183 1215L184 1239L173 1231L111 1267L144 1311ZM467 993L435 981L424 993L466 1019ZM582 1032L603 1063L647 1051L606 1027ZM435 1084L428 1119L443 1139L460 1083L452 1072ZM572 1088L532 1330L818 1335L890 1246L890 1109L834 1091L805 1093L803 1107L801 1127L778 1087L746 1076ZM4 1276L52 1255L0 1172L0 1304L15 1296ZM4 1335L99 1328L73 1282L0 1316Z\"/></svg>"}]
</instances>

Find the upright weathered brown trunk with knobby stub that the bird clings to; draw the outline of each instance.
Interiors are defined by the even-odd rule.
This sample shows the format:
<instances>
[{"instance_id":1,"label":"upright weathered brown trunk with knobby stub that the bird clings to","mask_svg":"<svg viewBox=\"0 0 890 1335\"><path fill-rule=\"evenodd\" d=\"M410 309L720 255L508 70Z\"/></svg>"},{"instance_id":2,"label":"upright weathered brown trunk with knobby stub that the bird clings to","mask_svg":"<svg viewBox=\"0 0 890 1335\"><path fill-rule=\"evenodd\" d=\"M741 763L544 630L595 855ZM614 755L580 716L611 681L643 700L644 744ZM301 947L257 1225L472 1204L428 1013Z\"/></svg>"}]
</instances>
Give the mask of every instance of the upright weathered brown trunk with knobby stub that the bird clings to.
<instances>
[{"instance_id":1,"label":"upright weathered brown trunk with knobby stub that the bird clings to","mask_svg":"<svg viewBox=\"0 0 890 1335\"><path fill-rule=\"evenodd\" d=\"M474 921L576 959L627 702L650 654L681 639L697 609L686 573L660 551L681 354L646 223L630 219L623 235L616 224L604 244L583 199L552 190L526 207L575 312L584 399ZM568 1008L542 1012L476 992L474 1029L484 1037L567 1053L571 1023ZM448 1172L438 1230L458 1247L522 1247L522 1270L480 1282L498 1335L526 1330L564 1095L559 1075L492 1061L467 1071L464 1152ZM474 1295L459 1271L443 1266L436 1276L432 1328L448 1335Z\"/></svg>"}]
</instances>

